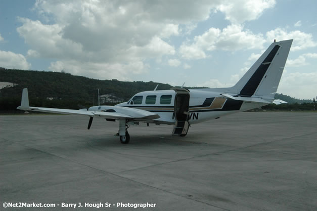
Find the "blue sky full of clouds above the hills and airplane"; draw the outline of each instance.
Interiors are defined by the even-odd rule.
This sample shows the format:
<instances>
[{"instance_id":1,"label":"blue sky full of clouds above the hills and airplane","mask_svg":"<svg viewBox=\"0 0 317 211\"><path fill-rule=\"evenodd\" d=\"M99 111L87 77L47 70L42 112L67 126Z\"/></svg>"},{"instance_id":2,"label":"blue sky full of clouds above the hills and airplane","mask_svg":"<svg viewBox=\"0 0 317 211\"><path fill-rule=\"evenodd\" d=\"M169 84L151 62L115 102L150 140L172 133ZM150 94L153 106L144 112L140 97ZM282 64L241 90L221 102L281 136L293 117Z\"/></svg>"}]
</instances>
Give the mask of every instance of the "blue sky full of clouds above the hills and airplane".
<instances>
[{"instance_id":1,"label":"blue sky full of clouds above the hills and airplane","mask_svg":"<svg viewBox=\"0 0 317 211\"><path fill-rule=\"evenodd\" d=\"M294 39L278 92L311 99L316 8L313 0L0 1L0 66L220 88L274 39Z\"/></svg>"}]
</instances>

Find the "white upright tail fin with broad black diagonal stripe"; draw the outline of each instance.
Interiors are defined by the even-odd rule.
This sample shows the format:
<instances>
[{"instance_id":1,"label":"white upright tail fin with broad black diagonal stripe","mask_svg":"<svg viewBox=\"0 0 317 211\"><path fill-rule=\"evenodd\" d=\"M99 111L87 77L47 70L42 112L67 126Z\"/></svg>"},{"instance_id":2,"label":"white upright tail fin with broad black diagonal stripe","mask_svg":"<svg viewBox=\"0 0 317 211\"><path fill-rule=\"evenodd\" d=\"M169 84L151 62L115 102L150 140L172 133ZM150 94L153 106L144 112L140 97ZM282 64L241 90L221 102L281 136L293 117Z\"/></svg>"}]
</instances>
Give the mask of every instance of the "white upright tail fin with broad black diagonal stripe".
<instances>
[{"instance_id":1,"label":"white upright tail fin with broad black diagonal stripe","mask_svg":"<svg viewBox=\"0 0 317 211\"><path fill-rule=\"evenodd\" d=\"M238 96L276 93L293 39L274 42L233 87Z\"/></svg>"}]
</instances>

